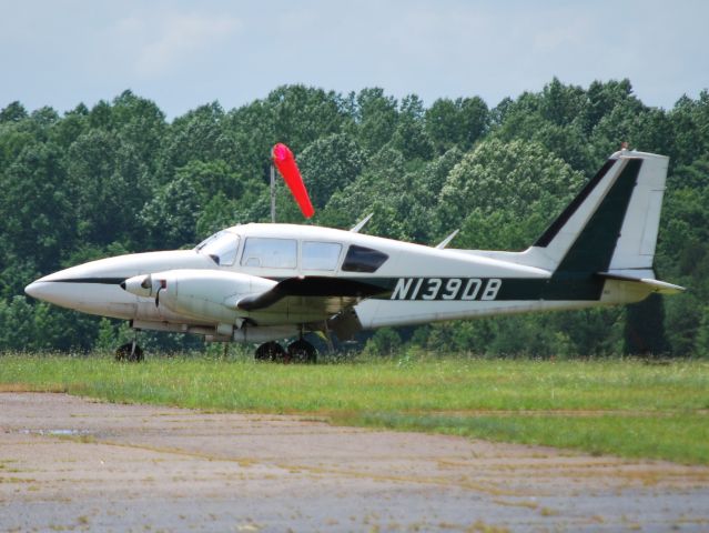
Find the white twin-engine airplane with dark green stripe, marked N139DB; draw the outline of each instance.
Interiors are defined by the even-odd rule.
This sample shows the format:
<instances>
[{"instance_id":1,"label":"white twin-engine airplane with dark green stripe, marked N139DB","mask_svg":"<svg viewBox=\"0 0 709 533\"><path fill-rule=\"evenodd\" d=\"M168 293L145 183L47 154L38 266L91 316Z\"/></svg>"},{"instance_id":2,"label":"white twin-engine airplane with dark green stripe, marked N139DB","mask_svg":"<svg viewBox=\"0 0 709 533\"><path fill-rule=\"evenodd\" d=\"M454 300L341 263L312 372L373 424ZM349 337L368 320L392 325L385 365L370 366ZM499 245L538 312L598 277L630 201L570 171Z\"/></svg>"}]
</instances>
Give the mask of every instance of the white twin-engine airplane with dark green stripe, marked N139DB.
<instances>
[{"instance_id":1,"label":"white twin-engine airplane with dark green stripe, marked N139DB","mask_svg":"<svg viewBox=\"0 0 709 533\"><path fill-rule=\"evenodd\" d=\"M683 289L652 271L669 159L614 153L523 252L426 247L351 231L236 225L193 250L102 259L41 278L34 298L135 330L261 343L257 359L314 361L305 332L359 330L637 302ZM284 349L276 341L296 338ZM135 342L118 358L142 359Z\"/></svg>"}]
</instances>

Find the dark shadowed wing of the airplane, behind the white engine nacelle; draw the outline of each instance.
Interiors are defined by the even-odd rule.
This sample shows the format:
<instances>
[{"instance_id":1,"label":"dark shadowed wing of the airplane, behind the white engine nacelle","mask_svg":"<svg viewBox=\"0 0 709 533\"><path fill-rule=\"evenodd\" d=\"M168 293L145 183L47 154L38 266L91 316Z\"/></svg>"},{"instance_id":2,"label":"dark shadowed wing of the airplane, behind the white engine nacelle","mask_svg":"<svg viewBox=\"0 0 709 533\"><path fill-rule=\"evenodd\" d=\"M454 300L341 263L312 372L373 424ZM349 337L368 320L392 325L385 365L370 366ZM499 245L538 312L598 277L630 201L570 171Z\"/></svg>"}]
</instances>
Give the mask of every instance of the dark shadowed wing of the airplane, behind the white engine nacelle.
<instances>
[{"instance_id":1,"label":"dark shadowed wing of the airplane, behind the white engine nacelle","mask_svg":"<svg viewBox=\"0 0 709 533\"><path fill-rule=\"evenodd\" d=\"M362 300L387 293L391 289L358 280L290 278L261 294L242 298L235 306L257 321L260 316L267 322L282 316L288 322L306 323L327 320Z\"/></svg>"}]
</instances>

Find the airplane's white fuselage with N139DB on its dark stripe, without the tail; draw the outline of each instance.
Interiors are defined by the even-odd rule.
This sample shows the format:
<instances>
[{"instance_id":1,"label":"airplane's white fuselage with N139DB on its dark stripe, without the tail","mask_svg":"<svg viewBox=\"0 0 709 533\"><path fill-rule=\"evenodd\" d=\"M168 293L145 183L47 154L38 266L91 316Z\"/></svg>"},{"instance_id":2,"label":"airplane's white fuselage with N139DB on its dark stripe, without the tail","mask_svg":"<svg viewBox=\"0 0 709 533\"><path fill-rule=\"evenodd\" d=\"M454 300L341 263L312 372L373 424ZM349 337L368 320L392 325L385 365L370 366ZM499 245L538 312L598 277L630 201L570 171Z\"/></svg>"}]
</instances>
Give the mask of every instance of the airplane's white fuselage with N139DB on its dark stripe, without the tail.
<instances>
[{"instance_id":1,"label":"airplane's white fuselage with N139DB on its dark stripe, without the tail","mask_svg":"<svg viewBox=\"0 0 709 533\"><path fill-rule=\"evenodd\" d=\"M543 309L579 309L597 304L604 286L597 280L584 291L579 292L577 286L567 295L551 295L548 270L493 259L485 252L439 250L312 225L237 225L225 230L222 239L226 242L222 248L215 247L217 253L210 253L207 243L202 249L102 259L41 278L27 292L84 313L129 320L140 329L202 333L219 339L232 336L234 332L229 328L245 321L251 326L243 329L249 335L242 339L236 334L235 339L257 342L295 334L301 324L322 322L331 312L325 315L320 310L308 315L307 309L297 313L260 312L234 305L235 298L261 292L286 279L330 278L336 285L352 281L371 286L371 294L361 294L362 301L355 303L364 329ZM253 243L257 244L255 249ZM347 264L353 247L366 251L362 264L356 263L356 254L355 263ZM381 264L372 263L372 257L374 263L381 260ZM121 288L128 279L154 273L168 279L186 278L193 283L204 274L211 286L220 274L244 274L244 280L256 284L244 288L239 280L232 282L226 278L213 294L200 292L190 299L185 295L188 303L196 300L197 305L192 305L197 308L195 312L185 311L184 305L160 304L152 295L135 295ZM204 299L213 308L226 303L222 305L223 312L201 315L199 303ZM239 333L240 329L234 331Z\"/></svg>"}]
</instances>

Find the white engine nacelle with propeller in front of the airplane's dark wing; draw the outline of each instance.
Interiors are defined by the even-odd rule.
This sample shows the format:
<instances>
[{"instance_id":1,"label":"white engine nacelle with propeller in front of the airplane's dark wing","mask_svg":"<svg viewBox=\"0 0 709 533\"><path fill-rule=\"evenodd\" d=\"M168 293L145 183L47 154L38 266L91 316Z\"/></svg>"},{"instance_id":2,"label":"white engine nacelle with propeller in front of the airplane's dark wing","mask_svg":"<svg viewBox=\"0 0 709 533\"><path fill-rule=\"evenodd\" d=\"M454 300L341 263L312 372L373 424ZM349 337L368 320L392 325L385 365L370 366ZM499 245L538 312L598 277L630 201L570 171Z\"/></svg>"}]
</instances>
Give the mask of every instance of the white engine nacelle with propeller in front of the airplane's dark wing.
<instances>
[{"instance_id":1,"label":"white engine nacelle with propeller in front of the airplane's dark wing","mask_svg":"<svg viewBox=\"0 0 709 533\"><path fill-rule=\"evenodd\" d=\"M235 302L259 294L276 282L256 275L223 270L169 270L136 275L124 281L125 290L139 296L154 295L159 306L199 322L234 324L243 316Z\"/></svg>"}]
</instances>

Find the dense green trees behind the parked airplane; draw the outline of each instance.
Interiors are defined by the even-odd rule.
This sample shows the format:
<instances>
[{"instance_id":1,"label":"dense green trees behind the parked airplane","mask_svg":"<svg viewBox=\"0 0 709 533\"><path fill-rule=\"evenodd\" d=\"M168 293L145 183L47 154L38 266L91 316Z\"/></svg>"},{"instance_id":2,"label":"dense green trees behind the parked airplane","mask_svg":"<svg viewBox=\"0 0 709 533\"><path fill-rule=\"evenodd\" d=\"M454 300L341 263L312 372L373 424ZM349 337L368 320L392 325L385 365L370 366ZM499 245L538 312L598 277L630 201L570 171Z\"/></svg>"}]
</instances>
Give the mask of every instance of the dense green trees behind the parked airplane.
<instances>
[{"instance_id":1,"label":"dense green trees behind the parked airplane","mask_svg":"<svg viewBox=\"0 0 709 533\"><path fill-rule=\"evenodd\" d=\"M428 108L382 89L346 95L303 86L225 111L166 121L130 91L89 109L0 111L0 350L109 346L118 323L23 295L42 274L119 253L191 247L223 227L270 220L269 154L296 154L315 224L456 248L524 249L621 141L670 155L656 265L689 288L628 308L382 330L366 350L539 356L709 352L709 92L671 110L645 105L628 80L584 89L553 80L489 109L479 98ZM302 222L283 188L280 222ZM163 348L183 341L152 335ZM194 344L193 344L194 345Z\"/></svg>"}]
</instances>

